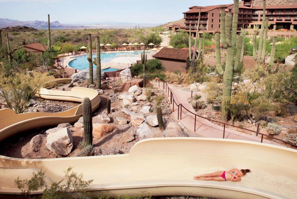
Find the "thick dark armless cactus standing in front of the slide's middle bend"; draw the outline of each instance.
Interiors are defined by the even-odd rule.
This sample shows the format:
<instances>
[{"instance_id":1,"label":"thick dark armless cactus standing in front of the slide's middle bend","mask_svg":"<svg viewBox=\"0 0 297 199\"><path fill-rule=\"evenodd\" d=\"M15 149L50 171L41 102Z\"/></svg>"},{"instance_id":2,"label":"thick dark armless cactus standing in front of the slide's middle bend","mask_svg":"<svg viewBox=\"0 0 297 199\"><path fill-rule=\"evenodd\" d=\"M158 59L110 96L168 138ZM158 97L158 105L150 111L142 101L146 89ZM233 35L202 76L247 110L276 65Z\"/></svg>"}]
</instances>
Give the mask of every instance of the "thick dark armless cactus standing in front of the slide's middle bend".
<instances>
[{"instance_id":1,"label":"thick dark armless cactus standing in front of the slide's middle bend","mask_svg":"<svg viewBox=\"0 0 297 199\"><path fill-rule=\"evenodd\" d=\"M89 97L83 98L83 130L85 131L85 140L87 145L93 142L92 126L92 107Z\"/></svg>"}]
</instances>

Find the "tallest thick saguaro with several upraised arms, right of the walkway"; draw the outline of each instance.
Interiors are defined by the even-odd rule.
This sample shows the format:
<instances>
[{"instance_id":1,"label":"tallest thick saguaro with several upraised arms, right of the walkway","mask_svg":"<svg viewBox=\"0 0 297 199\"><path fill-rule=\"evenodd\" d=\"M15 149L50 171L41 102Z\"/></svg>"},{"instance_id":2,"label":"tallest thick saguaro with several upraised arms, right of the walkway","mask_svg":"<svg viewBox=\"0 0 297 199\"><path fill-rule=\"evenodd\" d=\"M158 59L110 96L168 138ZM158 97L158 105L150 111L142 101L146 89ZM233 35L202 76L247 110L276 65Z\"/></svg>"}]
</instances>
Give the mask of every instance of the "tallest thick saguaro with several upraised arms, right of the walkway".
<instances>
[{"instance_id":1,"label":"tallest thick saguaro with several upraised arms, right of the walkway","mask_svg":"<svg viewBox=\"0 0 297 199\"><path fill-rule=\"evenodd\" d=\"M238 36L237 42L237 52L236 58L234 60L234 51L236 46L236 31L238 23L238 0L234 0L234 12L233 18L231 14L227 14L225 17L221 18L221 33L225 32L225 37L222 36L222 45L227 45L227 57L226 57L226 66L225 70L222 68L221 64L221 53L220 53L220 33L216 33L216 68L217 72L220 75L223 75L223 97L222 97L222 120L227 121L228 111L230 106L231 98L231 89L232 89L232 80L233 72L238 69L240 54L242 49L242 43L244 36L240 34ZM222 12L222 10L221 10ZM225 9L221 14L221 17L225 15ZM224 19L224 20L222 20ZM232 21L232 31L231 30L231 21ZM224 25L223 25L224 24Z\"/></svg>"}]
</instances>

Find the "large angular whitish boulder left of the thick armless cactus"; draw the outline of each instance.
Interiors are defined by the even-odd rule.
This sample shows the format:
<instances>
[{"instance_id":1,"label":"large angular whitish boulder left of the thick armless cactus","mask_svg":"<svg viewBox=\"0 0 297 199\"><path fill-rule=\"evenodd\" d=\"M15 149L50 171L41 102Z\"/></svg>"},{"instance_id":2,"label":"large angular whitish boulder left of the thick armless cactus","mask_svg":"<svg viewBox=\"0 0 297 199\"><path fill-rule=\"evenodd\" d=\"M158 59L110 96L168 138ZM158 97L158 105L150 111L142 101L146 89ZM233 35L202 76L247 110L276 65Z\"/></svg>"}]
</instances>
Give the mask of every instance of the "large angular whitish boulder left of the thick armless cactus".
<instances>
[{"instance_id":1,"label":"large angular whitish boulder left of the thick armless cactus","mask_svg":"<svg viewBox=\"0 0 297 199\"><path fill-rule=\"evenodd\" d=\"M73 138L70 129L63 128L48 134L45 146L53 153L68 155L73 147Z\"/></svg>"}]
</instances>

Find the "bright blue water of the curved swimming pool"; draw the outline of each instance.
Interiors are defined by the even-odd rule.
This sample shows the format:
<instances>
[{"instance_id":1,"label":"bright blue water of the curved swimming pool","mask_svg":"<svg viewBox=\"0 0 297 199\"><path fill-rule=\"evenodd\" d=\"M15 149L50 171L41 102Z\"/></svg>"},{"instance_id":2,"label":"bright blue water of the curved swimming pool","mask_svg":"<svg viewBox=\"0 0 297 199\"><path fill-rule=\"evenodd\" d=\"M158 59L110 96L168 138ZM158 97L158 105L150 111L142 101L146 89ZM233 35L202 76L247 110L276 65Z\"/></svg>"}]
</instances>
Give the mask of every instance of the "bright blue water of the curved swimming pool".
<instances>
[{"instance_id":1,"label":"bright blue water of the curved swimming pool","mask_svg":"<svg viewBox=\"0 0 297 199\"><path fill-rule=\"evenodd\" d=\"M137 55L142 53L142 51L137 51L137 52L115 52L115 53L101 53L100 54L100 58L101 58L101 63L106 63L106 62L110 62L112 59L116 58L117 55ZM150 52L146 52L146 53L150 53ZM78 70L84 70L89 68L89 62L87 60L87 57L89 56L89 54L83 55L83 56L78 56L76 57L75 60L72 60L68 63L68 65L71 68L76 68ZM93 59L94 57L96 57L96 54L93 54ZM119 57L119 56L118 56ZM129 57L129 56L127 56ZM93 64L93 68L96 68L96 66ZM114 71L114 70L119 70L117 68L107 68L104 69L103 71Z\"/></svg>"}]
</instances>

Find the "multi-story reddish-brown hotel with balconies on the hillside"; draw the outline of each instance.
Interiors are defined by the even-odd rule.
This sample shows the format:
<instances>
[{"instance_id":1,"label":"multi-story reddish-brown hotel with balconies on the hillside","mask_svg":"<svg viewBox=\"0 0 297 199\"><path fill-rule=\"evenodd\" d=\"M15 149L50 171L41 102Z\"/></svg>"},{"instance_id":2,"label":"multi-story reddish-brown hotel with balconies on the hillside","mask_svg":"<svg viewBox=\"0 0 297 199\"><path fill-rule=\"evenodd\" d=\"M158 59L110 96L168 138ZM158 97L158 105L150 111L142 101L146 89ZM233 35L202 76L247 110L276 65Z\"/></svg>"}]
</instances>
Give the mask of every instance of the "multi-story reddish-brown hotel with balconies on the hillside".
<instances>
[{"instance_id":1,"label":"multi-story reddish-brown hotel with balconies on the hillside","mask_svg":"<svg viewBox=\"0 0 297 199\"><path fill-rule=\"evenodd\" d=\"M244 27L253 28L254 25L262 24L263 18L263 6L253 6L254 0L243 0L242 5L239 5L238 10L238 30ZM233 12L233 4L225 5L225 12ZM189 11L183 12L185 19L185 26L176 28L176 31L184 29L189 32L190 26L192 30L192 36L195 36L199 9L200 13L200 25L199 33L206 31L213 33L216 30L220 30L221 5L215 6L192 6L189 7ZM266 5L266 17L269 20L269 29L287 29L297 30L297 4L296 5Z\"/></svg>"}]
</instances>

